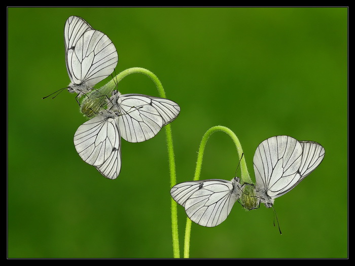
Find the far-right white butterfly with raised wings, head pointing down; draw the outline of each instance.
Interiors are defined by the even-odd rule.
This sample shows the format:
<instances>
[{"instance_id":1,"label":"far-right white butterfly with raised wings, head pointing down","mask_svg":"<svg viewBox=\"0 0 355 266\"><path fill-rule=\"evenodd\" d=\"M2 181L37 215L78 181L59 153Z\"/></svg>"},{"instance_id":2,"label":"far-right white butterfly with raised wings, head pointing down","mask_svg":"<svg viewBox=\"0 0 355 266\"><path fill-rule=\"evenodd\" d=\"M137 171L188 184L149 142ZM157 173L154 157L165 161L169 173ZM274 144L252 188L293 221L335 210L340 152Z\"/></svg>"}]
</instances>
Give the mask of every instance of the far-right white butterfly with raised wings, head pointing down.
<instances>
[{"instance_id":1,"label":"far-right white butterfly with raised wings, head pointing down","mask_svg":"<svg viewBox=\"0 0 355 266\"><path fill-rule=\"evenodd\" d=\"M324 147L314 141L274 136L261 142L254 155L256 193L270 208L274 199L288 193L323 160Z\"/></svg>"}]
</instances>

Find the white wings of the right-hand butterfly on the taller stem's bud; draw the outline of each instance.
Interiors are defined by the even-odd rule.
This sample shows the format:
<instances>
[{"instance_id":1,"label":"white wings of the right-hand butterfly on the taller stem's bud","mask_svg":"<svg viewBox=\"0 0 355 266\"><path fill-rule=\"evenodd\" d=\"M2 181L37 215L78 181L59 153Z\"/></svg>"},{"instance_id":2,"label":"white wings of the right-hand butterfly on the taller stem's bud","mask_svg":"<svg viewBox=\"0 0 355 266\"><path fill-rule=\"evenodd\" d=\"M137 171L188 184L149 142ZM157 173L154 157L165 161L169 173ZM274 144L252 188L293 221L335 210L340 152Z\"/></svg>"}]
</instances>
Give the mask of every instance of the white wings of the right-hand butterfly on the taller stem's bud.
<instances>
[{"instance_id":1,"label":"white wings of the right-hand butterfly on the taller stem's bud","mask_svg":"<svg viewBox=\"0 0 355 266\"><path fill-rule=\"evenodd\" d=\"M121 136L129 142L141 142L154 137L180 112L177 103L165 98L141 94L117 97L115 106L119 113L119 129Z\"/></svg>"}]
</instances>

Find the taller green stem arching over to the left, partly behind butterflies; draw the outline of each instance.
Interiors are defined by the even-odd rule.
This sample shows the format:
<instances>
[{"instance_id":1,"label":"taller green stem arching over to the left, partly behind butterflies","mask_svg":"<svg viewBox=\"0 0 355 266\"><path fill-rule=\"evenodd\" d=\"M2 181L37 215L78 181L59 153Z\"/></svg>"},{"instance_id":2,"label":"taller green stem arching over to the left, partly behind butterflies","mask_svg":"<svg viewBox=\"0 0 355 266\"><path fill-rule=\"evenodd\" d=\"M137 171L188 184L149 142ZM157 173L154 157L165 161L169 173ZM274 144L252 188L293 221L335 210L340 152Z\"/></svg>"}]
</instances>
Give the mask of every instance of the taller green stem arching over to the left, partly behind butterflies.
<instances>
[{"instance_id":1,"label":"taller green stem arching over to the left, partly behind butterflies","mask_svg":"<svg viewBox=\"0 0 355 266\"><path fill-rule=\"evenodd\" d=\"M128 68L116 75L108 84L101 89L101 93L110 96L112 91L115 89L116 85L127 75L141 73L147 75L155 84L158 89L159 96L161 98L166 98L163 85L159 81L158 77L151 71L141 67ZM169 158L169 170L170 170L170 187L176 184L176 171L175 171L175 160L174 160L174 147L172 144L172 133L170 124L165 126L166 143L168 149ZM180 257L179 249L179 234L177 230L177 204L171 198L171 227L172 227L172 248L174 258Z\"/></svg>"}]
</instances>

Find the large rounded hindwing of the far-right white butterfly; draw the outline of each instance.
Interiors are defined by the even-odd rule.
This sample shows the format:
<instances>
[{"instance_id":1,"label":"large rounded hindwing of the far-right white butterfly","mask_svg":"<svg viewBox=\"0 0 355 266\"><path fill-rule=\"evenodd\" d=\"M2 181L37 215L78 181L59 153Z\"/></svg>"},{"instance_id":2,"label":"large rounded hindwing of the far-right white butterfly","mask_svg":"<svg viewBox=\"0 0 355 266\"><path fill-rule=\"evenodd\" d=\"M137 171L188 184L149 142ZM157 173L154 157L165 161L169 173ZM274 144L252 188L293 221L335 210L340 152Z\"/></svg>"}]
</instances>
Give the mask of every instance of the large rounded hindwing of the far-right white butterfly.
<instances>
[{"instance_id":1,"label":"large rounded hindwing of the far-right white butterfly","mask_svg":"<svg viewBox=\"0 0 355 266\"><path fill-rule=\"evenodd\" d=\"M292 189L301 178L301 143L290 136L275 136L260 143L254 155L254 172L258 191L272 199Z\"/></svg>"}]
</instances>

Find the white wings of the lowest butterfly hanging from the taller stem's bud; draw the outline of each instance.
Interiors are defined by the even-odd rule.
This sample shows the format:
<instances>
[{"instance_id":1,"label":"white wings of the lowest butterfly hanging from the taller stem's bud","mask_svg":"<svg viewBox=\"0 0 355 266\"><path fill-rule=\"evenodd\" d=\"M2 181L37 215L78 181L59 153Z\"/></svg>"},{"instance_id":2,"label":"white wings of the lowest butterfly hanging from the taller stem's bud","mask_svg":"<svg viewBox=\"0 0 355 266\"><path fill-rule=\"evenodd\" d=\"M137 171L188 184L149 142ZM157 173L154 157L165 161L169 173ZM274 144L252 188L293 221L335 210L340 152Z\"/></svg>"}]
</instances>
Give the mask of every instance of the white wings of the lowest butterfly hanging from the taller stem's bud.
<instances>
[{"instance_id":1,"label":"white wings of the lowest butterfly hanging from the taller stem's bud","mask_svg":"<svg viewBox=\"0 0 355 266\"><path fill-rule=\"evenodd\" d=\"M121 169L121 138L115 118L98 115L82 124L74 135L79 156L107 178Z\"/></svg>"}]
</instances>

